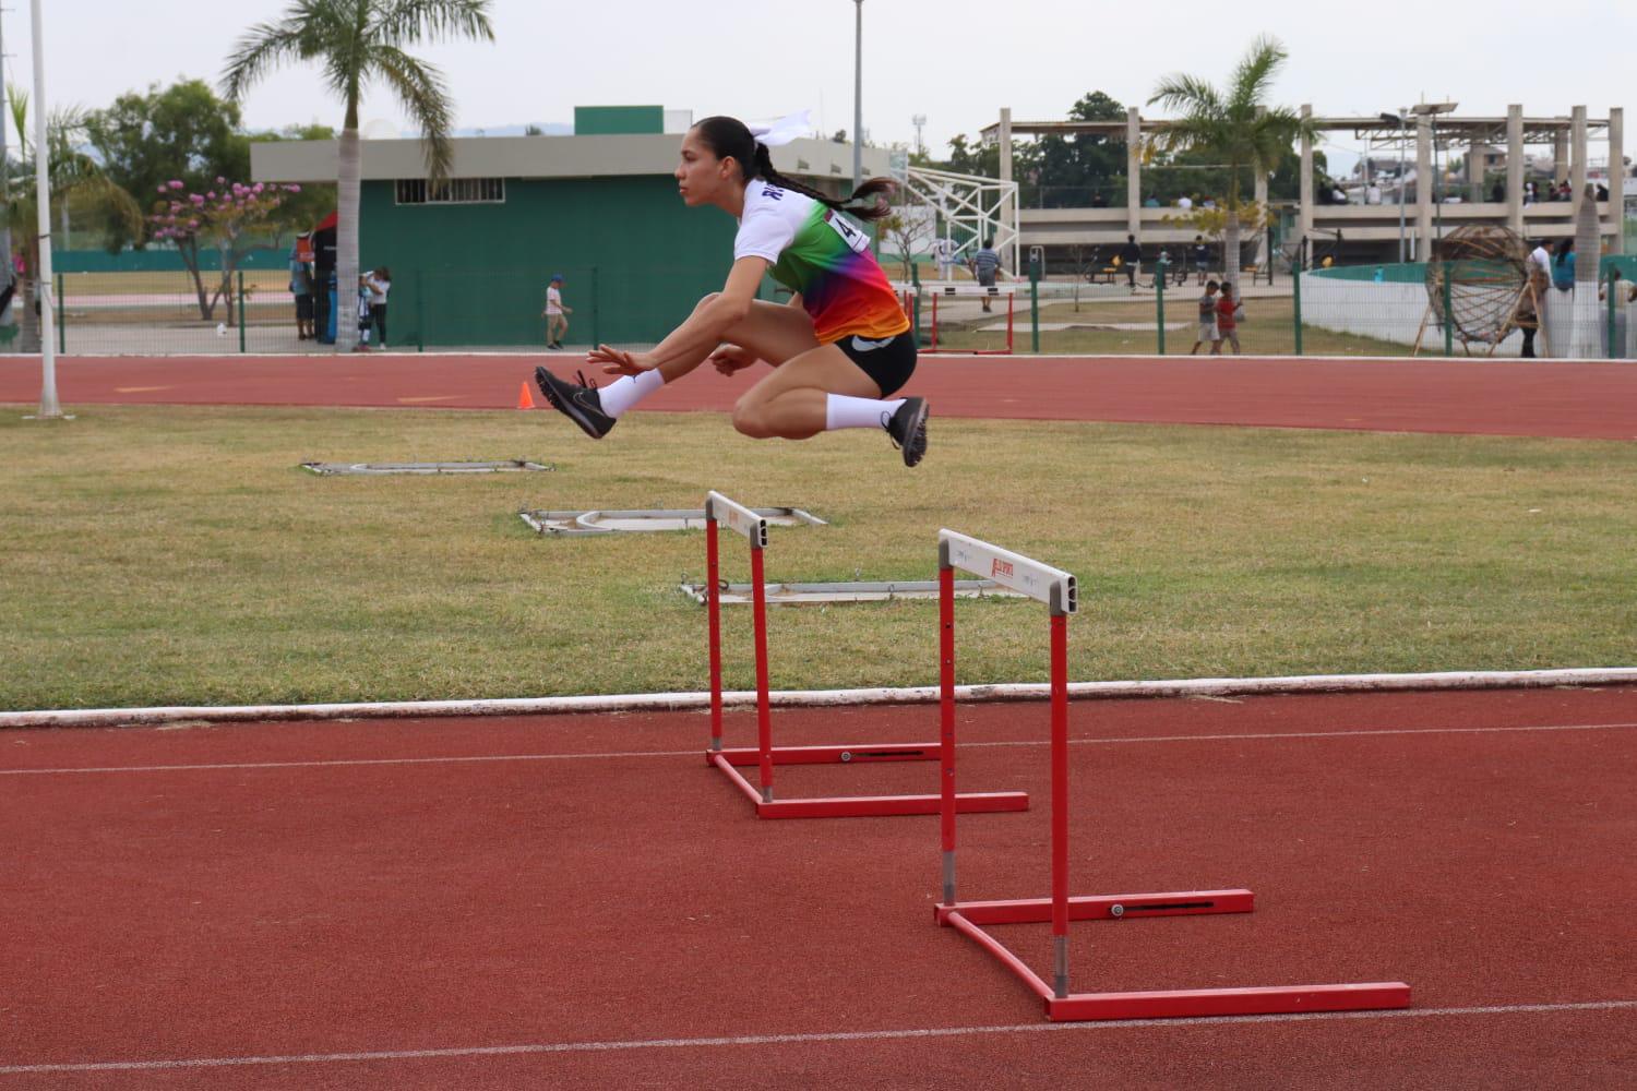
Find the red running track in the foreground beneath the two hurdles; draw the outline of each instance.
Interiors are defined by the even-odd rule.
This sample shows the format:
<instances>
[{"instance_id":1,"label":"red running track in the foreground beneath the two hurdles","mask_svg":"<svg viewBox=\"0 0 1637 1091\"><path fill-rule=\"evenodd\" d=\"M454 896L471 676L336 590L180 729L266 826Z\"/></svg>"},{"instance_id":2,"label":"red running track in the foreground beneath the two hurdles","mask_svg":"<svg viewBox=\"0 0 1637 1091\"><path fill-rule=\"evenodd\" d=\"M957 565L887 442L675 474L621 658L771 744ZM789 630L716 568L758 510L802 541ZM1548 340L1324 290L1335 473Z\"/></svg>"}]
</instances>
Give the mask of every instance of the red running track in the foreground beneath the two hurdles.
<instances>
[{"instance_id":1,"label":"red running track in the foreground beneath the two hurdles","mask_svg":"<svg viewBox=\"0 0 1637 1091\"><path fill-rule=\"evenodd\" d=\"M964 783L1036 798L961 821L964 896L1046 893L1044 715L963 710ZM774 730L933 736L936 710ZM756 821L706 734L0 736L0 1088L1630 1086L1637 690L1077 703L1072 893L1246 885L1257 911L1079 924L1076 988L1414 986L1409 1012L1265 1022L1048 1027L933 926L936 818ZM1049 967L1044 929L1007 939ZM20 1070L250 1057L313 1060Z\"/></svg>"}]
</instances>

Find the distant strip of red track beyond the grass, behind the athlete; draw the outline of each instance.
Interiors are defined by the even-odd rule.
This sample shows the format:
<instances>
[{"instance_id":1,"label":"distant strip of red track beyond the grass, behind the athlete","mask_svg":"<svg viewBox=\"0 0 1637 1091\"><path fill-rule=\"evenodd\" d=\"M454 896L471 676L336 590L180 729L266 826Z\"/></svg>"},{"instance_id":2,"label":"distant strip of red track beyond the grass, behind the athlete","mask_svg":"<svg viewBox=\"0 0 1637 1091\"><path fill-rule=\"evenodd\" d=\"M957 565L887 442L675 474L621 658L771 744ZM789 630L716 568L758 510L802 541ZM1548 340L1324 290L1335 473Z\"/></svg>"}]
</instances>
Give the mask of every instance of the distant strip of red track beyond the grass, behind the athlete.
<instances>
[{"instance_id":1,"label":"distant strip of red track beyond the grass, behind the athlete","mask_svg":"<svg viewBox=\"0 0 1637 1091\"><path fill-rule=\"evenodd\" d=\"M79 357L67 406L427 406L509 409L543 357ZM578 358L552 357L568 375ZM643 409L730 409L753 373L697 373ZM1238 424L1637 438L1637 366L1444 360L928 357L912 393L940 417ZM39 363L0 361L0 402L39 399Z\"/></svg>"}]
</instances>

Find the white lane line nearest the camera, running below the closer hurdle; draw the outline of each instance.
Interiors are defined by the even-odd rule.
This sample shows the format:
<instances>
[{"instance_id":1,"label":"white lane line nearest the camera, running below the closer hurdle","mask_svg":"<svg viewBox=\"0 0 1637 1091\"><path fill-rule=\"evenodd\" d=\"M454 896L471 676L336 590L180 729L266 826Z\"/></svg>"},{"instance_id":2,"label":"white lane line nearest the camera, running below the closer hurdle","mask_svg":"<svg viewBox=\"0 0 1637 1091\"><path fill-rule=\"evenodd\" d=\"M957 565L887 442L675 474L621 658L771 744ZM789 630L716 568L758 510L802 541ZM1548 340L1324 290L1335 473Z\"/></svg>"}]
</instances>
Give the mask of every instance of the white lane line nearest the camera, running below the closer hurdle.
<instances>
[{"instance_id":1,"label":"white lane line nearest the camera, running below the closer hurdle","mask_svg":"<svg viewBox=\"0 0 1637 1091\"><path fill-rule=\"evenodd\" d=\"M745 1034L715 1039L630 1039L624 1042L540 1042L527 1045L470 1045L437 1050L373 1050L359 1053L286 1053L270 1057L198 1057L185 1060L118 1060L72 1065L0 1065L0 1076L47 1071L159 1071L174 1068L236 1068L249 1065L332 1065L344 1062L439 1060L449 1057L517 1057L524 1053L617 1053L665 1048L720 1048L742 1045L810 1045L825 1042L894 1042L904 1039L956 1039L985 1034L1076 1034L1120 1030L1254 1026L1264 1022L1318 1022L1329 1019L1436 1019L1459 1016L1524 1016L1578 1011L1624 1011L1637 999L1598 999L1568 1004L1488 1004L1481 1008L1400 1008L1395 1011L1298 1012L1287 1016L1193 1016L1185 1019L1108 1019L1102 1022L1026 1022L990 1027L927 1027L913 1030L837 1030L820 1034Z\"/></svg>"}]
</instances>

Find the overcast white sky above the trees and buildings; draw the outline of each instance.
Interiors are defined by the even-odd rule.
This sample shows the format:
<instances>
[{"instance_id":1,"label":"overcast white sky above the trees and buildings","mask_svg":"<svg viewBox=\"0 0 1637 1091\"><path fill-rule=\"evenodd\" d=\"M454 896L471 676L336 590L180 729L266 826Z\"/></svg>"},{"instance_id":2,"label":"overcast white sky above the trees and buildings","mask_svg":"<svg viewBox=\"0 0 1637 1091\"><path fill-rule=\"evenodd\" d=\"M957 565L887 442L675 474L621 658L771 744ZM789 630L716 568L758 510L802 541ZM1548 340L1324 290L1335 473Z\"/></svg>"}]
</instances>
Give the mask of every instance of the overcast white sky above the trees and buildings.
<instances>
[{"instance_id":1,"label":"overcast white sky above the trees and buildings","mask_svg":"<svg viewBox=\"0 0 1637 1091\"><path fill-rule=\"evenodd\" d=\"M152 82L214 82L239 34L286 0L43 7L47 100L98 108ZM576 105L630 103L742 118L810 108L825 131L853 128L853 0L493 0L491 11L494 44L419 49L449 77L458 128L571 121ZM935 154L1000 106L1015 119L1056 119L1089 90L1141 103L1169 72L1220 83L1259 33L1290 49L1275 98L1323 114L1375 114L1424 93L1459 101L1460 113L1499 114L1516 101L1529 114L1585 103L1606 116L1637 98L1632 0L864 0L863 11L866 132L913 142L910 118L925 114ZM0 18L7 79L28 85L29 5L13 0ZM363 119L378 118L404 126L373 90ZM244 119L339 124L340 108L316 70L293 67L250 92ZM1637 132L1627 152L1634 144Z\"/></svg>"}]
</instances>

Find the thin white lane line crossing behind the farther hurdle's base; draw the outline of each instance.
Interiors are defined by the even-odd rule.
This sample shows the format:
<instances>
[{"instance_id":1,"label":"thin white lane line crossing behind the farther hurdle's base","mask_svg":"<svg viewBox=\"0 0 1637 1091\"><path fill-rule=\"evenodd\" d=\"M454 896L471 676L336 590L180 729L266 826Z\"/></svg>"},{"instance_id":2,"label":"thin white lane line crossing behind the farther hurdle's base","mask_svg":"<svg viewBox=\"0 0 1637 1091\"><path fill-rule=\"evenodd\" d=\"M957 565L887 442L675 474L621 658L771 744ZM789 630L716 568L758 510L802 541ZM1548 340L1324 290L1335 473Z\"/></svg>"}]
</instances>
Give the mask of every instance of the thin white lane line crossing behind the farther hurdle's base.
<instances>
[{"instance_id":1,"label":"thin white lane line crossing behind the farther hurdle's base","mask_svg":"<svg viewBox=\"0 0 1637 1091\"><path fill-rule=\"evenodd\" d=\"M1519 734L1532 731L1619 731L1637 728L1634 723L1544 723L1514 728L1360 728L1357 731L1252 731L1244 734L1128 734L1107 739L1069 739L1069 746L1130 746L1134 743L1234 743L1280 739L1346 739L1398 734ZM871 744L859 744L868 749ZM995 743L961 743L963 749L1000 746L1051 746L1049 739L1015 739ZM354 765L460 765L481 762L550 762L550 761L604 761L617 757L699 757L706 748L691 751L601 751L593 754L473 754L452 757L347 757L303 762L219 762L211 765L88 765L59 769L0 769L0 777L44 777L64 774L110 772L213 772L226 769L345 769Z\"/></svg>"}]
</instances>

